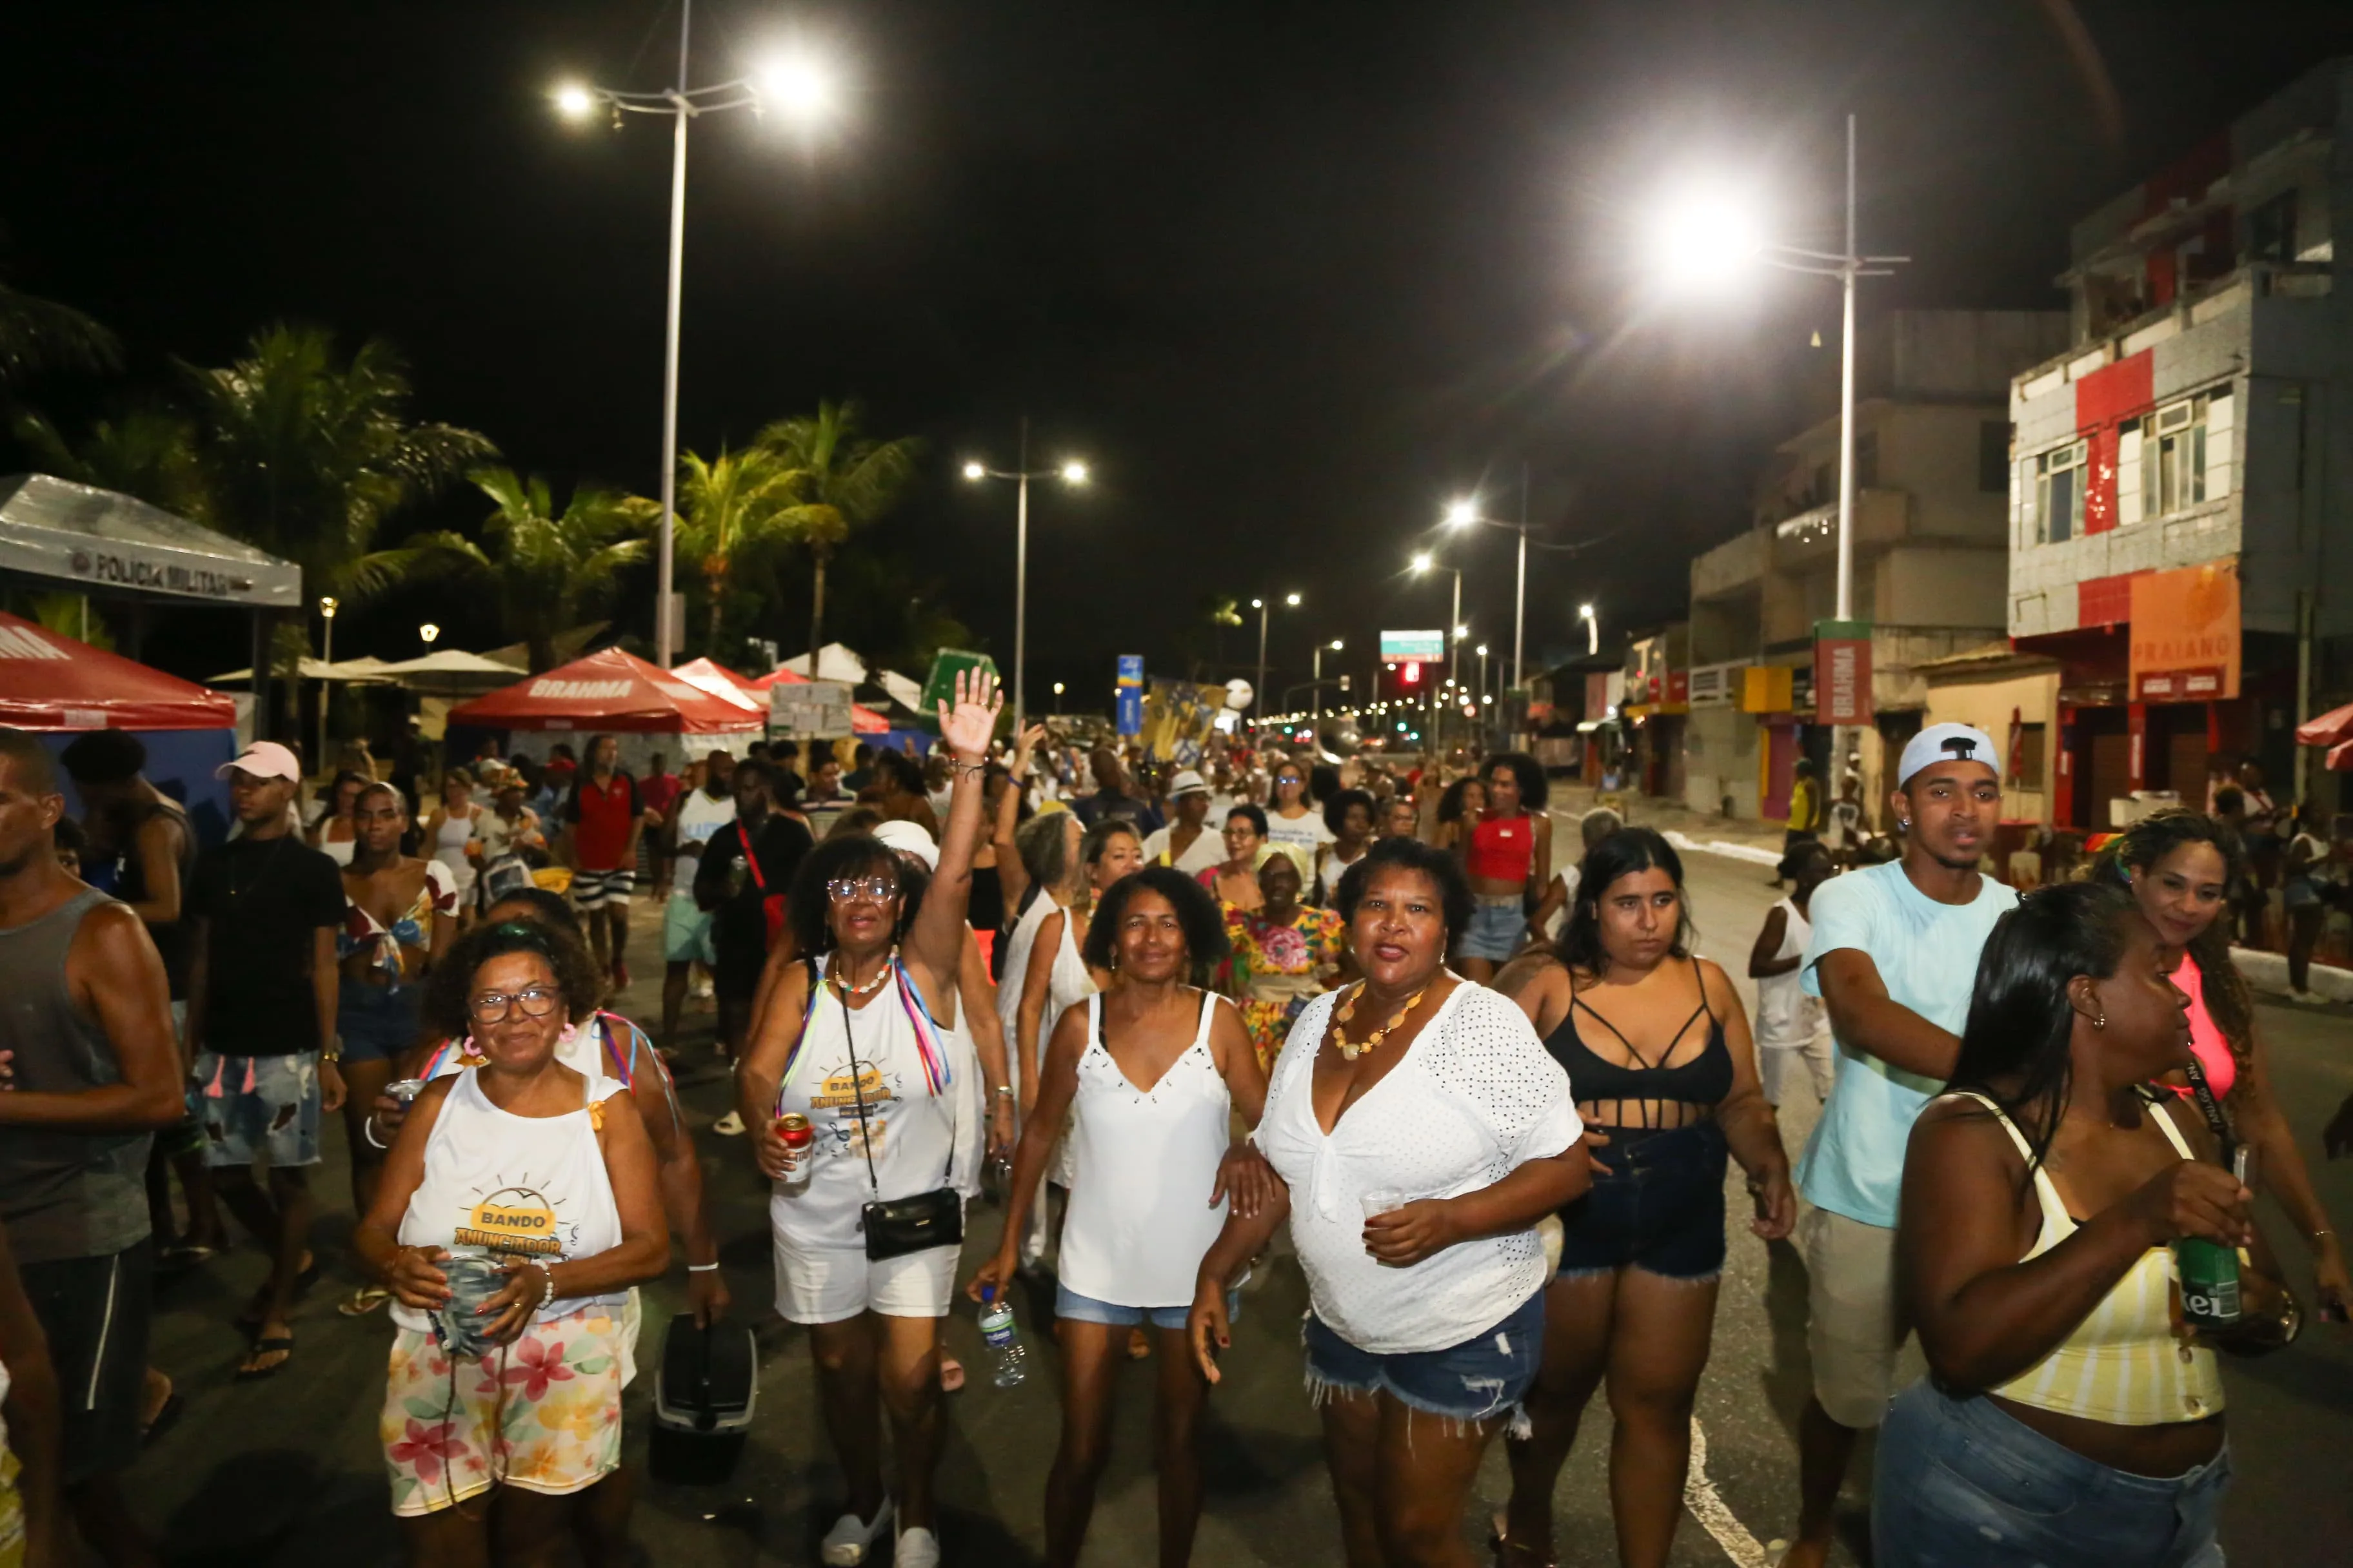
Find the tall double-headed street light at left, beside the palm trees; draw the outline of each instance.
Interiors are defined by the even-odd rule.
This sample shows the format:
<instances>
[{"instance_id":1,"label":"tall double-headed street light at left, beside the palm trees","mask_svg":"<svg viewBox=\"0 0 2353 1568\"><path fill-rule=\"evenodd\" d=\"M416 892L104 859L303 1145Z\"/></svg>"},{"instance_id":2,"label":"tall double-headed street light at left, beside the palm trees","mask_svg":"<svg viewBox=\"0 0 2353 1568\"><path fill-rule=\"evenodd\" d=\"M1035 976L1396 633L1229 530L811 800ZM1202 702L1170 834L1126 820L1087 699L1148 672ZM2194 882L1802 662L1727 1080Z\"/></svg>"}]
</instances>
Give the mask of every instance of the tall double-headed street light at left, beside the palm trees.
<instances>
[{"instance_id":1,"label":"tall double-headed street light at left, beside the palm trees","mask_svg":"<svg viewBox=\"0 0 2353 1568\"><path fill-rule=\"evenodd\" d=\"M555 110L584 122L602 103L619 129L621 115L668 115L671 132L671 284L661 343L661 541L654 559L654 663L664 670L678 654L678 317L687 277L687 122L729 108L755 115L781 110L800 125L833 115L840 92L835 73L814 54L793 52L762 61L748 78L687 87L687 42L694 28L694 0L678 5L678 85L661 92L621 92L586 82L555 89ZM814 670L812 670L814 675Z\"/></svg>"}]
</instances>

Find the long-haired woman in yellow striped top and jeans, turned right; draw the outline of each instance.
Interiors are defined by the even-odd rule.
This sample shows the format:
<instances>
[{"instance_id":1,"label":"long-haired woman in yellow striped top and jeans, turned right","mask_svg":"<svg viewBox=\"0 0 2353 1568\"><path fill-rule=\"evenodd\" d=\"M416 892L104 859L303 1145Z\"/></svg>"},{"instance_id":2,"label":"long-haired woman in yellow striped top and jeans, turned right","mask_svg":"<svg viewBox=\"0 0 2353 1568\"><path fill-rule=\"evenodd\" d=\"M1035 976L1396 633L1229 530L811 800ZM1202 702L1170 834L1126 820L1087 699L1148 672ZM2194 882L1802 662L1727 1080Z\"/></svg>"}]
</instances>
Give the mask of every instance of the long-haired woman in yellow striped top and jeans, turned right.
<instances>
[{"instance_id":1,"label":"long-haired woman in yellow striped top and jeans, turned right","mask_svg":"<svg viewBox=\"0 0 2353 1568\"><path fill-rule=\"evenodd\" d=\"M2198 1110L2172 950L2113 879L2005 912L1948 1091L1904 1154L1897 1295L1929 1375L1880 1425L1882 1568L2207 1568L2231 1483L2212 1345L2294 1338ZM2172 1244L2240 1251L2240 1321L2179 1324ZM2254 1248L2249 1253L2249 1248Z\"/></svg>"}]
</instances>

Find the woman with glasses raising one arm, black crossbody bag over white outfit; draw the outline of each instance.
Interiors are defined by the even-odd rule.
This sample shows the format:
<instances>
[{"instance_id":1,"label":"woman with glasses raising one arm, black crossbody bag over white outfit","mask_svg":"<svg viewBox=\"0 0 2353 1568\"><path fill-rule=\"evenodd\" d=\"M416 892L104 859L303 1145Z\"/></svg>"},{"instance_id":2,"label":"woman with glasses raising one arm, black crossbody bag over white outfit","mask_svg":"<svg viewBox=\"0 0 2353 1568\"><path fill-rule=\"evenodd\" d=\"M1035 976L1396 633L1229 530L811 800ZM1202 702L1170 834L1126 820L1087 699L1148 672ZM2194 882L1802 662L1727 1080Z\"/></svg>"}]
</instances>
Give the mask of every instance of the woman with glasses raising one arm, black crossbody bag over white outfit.
<instances>
[{"instance_id":1,"label":"woman with glasses raising one arm, black crossbody bag over white outfit","mask_svg":"<svg viewBox=\"0 0 2353 1568\"><path fill-rule=\"evenodd\" d=\"M892 1563L939 1563L939 1319L979 1175L976 1128L958 1117L967 1086L951 1065L972 1051L958 971L998 708L981 670L955 677L953 712L941 703L955 783L932 877L871 835L828 837L802 858L788 898L802 961L776 980L736 1074L736 1110L776 1182L776 1312L809 1326L849 1488L821 1542L840 1568L868 1561L894 1516ZM812 1145L784 1143L786 1114L807 1121ZM882 1474L885 1415L894 1483Z\"/></svg>"}]
</instances>

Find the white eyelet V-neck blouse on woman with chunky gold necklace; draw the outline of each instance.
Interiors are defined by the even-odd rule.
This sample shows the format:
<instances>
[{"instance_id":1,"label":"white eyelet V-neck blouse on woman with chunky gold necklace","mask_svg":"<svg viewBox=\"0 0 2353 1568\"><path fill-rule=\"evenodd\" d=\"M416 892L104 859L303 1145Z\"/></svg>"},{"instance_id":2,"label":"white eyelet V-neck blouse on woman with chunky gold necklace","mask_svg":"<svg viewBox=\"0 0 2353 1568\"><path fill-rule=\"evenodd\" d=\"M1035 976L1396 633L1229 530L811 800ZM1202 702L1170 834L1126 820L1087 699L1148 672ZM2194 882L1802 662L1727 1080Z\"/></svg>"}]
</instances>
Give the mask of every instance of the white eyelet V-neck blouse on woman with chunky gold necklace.
<instances>
[{"instance_id":1,"label":"white eyelet V-neck blouse on woman with chunky gold necklace","mask_svg":"<svg viewBox=\"0 0 2353 1568\"><path fill-rule=\"evenodd\" d=\"M1292 1246L1315 1316L1372 1354L1447 1349L1544 1288L1534 1227L1461 1241L1400 1269L1365 1251L1362 1199L1459 1197L1565 1152L1584 1135L1569 1074L1527 1013L1466 980L1405 1060L1325 1135L1313 1103L1315 1053L1339 994L1318 997L1292 1025L1254 1140L1292 1190Z\"/></svg>"}]
</instances>

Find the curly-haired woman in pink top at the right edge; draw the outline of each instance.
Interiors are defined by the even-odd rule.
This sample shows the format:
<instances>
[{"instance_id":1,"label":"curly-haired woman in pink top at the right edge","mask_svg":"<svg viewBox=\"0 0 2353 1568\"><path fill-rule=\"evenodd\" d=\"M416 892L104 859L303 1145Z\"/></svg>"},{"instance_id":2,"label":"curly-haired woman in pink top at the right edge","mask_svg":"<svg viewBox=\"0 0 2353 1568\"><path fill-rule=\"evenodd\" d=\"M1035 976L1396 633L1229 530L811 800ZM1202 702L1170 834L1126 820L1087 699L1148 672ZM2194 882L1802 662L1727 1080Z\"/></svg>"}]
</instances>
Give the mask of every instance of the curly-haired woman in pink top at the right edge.
<instances>
[{"instance_id":1,"label":"curly-haired woman in pink top at the right edge","mask_svg":"<svg viewBox=\"0 0 2353 1568\"><path fill-rule=\"evenodd\" d=\"M2188 809L2144 816L2092 860L2092 877L2125 882L2165 945L2184 954L2174 985L2191 999L2191 1053L2240 1140L2254 1147L2257 1185L2280 1199L2311 1246L2322 1309L2341 1314L2353 1307L2353 1274L2346 1272L2329 1211L2313 1192L2297 1135L2271 1093L2271 1070L2254 1034L2254 994L2231 961L2224 914L2231 889L2245 875L2238 835ZM2186 1074L2174 1074L2174 1093L2195 1100Z\"/></svg>"}]
</instances>

